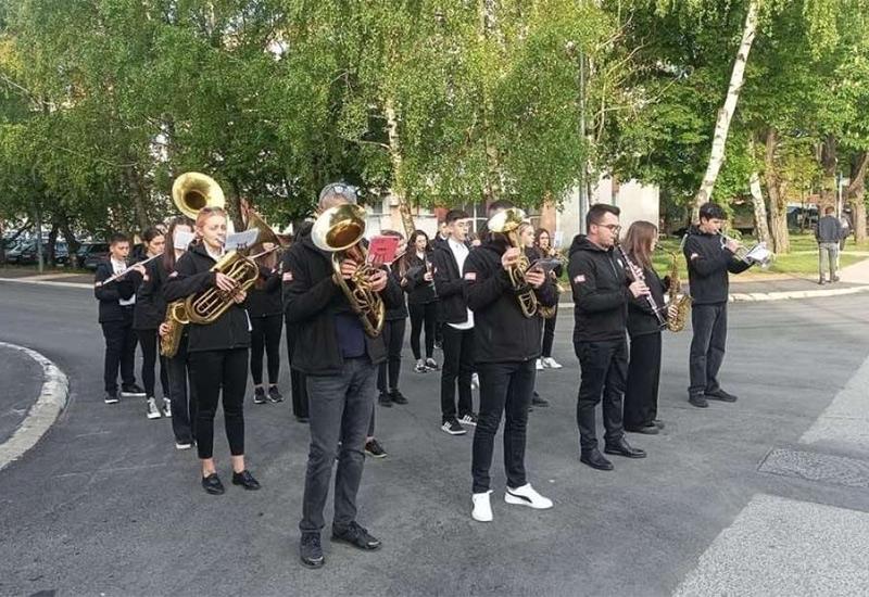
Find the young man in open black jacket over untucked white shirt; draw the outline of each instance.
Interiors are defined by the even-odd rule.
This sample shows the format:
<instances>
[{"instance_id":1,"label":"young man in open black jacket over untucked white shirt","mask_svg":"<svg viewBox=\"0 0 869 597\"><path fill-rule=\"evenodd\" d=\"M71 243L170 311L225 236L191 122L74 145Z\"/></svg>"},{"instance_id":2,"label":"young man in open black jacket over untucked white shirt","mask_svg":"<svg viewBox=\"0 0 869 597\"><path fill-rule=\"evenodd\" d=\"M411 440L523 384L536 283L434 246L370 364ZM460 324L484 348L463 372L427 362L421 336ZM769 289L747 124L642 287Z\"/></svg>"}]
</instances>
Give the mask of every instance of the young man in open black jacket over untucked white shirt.
<instances>
[{"instance_id":1,"label":"young man in open black jacket over untucked white shirt","mask_svg":"<svg viewBox=\"0 0 869 597\"><path fill-rule=\"evenodd\" d=\"M462 423L476 425L470 377L474 373L474 313L465 301L462 268L470 253L467 244L470 216L461 209L446 214L446 240L431 257L434 287L440 296L443 323L443 371L441 373L441 429L450 435L466 433ZM458 409L455 391L458 381Z\"/></svg>"}]
</instances>

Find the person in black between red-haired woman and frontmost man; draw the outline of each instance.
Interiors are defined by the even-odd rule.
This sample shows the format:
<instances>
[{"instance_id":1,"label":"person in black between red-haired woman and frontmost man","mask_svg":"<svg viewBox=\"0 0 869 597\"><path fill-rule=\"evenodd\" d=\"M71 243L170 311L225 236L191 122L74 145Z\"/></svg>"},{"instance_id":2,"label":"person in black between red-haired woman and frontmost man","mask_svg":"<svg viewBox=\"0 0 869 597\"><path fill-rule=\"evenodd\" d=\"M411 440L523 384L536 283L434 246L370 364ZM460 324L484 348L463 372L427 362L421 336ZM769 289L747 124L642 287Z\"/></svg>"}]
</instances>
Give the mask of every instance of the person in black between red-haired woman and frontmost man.
<instances>
[{"instance_id":1,"label":"person in black between red-haired woman and frontmost man","mask_svg":"<svg viewBox=\"0 0 869 597\"><path fill-rule=\"evenodd\" d=\"M262 251L274 249L272 243L263 243ZM248 315L251 318L251 378L253 378L253 402L278 403L284 396L278 390L280 374L280 333L284 319L284 304L280 297L280 272L275 252L254 259L260 266L260 277L248 293ZM268 364L268 394L263 388L263 353Z\"/></svg>"}]
</instances>

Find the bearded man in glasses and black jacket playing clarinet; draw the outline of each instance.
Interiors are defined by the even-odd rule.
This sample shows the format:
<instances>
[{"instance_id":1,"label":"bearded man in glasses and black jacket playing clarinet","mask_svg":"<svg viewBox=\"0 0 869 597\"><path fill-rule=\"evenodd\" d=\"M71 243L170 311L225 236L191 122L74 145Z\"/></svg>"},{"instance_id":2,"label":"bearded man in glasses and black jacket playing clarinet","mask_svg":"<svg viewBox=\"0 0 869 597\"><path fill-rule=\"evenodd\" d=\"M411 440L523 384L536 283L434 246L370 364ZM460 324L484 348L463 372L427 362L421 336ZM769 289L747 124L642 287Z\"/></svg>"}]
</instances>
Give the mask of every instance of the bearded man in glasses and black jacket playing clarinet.
<instances>
[{"instance_id":1,"label":"bearded man in glasses and black jacket playing clarinet","mask_svg":"<svg viewBox=\"0 0 869 597\"><path fill-rule=\"evenodd\" d=\"M585 216L589 233L578 234L570 246L570 285L574 290L574 350L582 379L577 397L580 461L599 470L613 470L600 452L595 409L603 396L604 452L644 458L645 452L625 440L621 401L628 374L628 303L648 294L642 280L632 280L616 243L621 227L619 208L597 203Z\"/></svg>"}]
</instances>

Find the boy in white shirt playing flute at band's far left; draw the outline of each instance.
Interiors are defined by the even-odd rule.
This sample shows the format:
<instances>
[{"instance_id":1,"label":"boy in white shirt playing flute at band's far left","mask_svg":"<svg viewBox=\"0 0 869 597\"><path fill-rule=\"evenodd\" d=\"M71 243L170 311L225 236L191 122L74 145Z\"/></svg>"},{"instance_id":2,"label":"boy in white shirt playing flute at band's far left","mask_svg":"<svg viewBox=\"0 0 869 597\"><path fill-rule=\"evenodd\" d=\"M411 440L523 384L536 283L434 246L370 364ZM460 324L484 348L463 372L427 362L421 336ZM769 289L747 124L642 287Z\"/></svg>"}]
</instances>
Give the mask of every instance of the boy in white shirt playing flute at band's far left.
<instances>
[{"instance_id":1,"label":"boy in white shirt playing flute at band's far left","mask_svg":"<svg viewBox=\"0 0 869 597\"><path fill-rule=\"evenodd\" d=\"M100 326L105 338L103 382L105 404L117 404L117 371L121 369L121 395L143 398L144 390L136 384L134 364L136 360L136 332L133 331L133 305L136 304L136 287L141 281L144 268L134 265L130 274L109 283L114 275L126 271L129 255L129 239L124 234L112 234L109 239L109 259L100 262L95 275L93 295L100 305Z\"/></svg>"}]
</instances>

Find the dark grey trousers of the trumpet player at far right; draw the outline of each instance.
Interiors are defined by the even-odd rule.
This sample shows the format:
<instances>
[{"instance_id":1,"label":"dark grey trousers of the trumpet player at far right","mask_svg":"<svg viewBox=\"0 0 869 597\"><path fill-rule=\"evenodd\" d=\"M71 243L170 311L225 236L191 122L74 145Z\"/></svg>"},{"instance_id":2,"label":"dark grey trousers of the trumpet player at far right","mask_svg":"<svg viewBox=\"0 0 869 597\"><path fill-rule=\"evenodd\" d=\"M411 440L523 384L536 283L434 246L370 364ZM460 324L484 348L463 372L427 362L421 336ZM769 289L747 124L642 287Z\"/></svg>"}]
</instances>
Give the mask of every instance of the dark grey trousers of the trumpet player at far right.
<instances>
[{"instance_id":1,"label":"dark grey trousers of the trumpet player at far right","mask_svg":"<svg viewBox=\"0 0 869 597\"><path fill-rule=\"evenodd\" d=\"M694 335L689 356L691 385L688 393L696 396L721 388L718 370L727 350L727 303L692 306L691 326Z\"/></svg>"}]
</instances>

